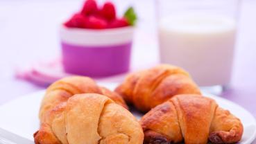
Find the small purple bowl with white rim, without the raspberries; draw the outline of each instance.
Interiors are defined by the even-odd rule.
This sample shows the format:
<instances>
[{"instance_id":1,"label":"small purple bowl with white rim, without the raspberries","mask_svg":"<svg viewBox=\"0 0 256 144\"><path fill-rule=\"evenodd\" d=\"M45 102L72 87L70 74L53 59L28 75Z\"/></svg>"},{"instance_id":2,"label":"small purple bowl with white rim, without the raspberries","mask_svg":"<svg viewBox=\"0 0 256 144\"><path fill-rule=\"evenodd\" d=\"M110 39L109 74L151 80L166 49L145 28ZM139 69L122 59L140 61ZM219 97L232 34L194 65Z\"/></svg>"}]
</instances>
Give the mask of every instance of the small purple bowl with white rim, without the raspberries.
<instances>
[{"instance_id":1,"label":"small purple bowl with white rim, without the raspberries","mask_svg":"<svg viewBox=\"0 0 256 144\"><path fill-rule=\"evenodd\" d=\"M60 29L62 64L67 73L105 77L130 67L133 28Z\"/></svg>"}]
</instances>

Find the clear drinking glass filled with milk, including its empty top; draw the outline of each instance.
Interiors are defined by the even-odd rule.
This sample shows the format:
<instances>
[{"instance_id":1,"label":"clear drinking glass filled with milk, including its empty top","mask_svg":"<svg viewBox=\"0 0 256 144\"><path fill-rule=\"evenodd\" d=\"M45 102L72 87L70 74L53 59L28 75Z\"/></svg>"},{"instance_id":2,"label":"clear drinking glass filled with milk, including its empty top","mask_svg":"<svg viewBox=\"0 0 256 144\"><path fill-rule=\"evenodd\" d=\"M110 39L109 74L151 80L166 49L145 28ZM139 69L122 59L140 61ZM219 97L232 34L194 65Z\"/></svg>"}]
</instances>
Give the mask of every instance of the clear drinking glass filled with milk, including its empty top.
<instances>
[{"instance_id":1,"label":"clear drinking glass filled with milk, including its empty top","mask_svg":"<svg viewBox=\"0 0 256 144\"><path fill-rule=\"evenodd\" d=\"M160 61L203 87L228 86L239 0L157 0Z\"/></svg>"}]
</instances>

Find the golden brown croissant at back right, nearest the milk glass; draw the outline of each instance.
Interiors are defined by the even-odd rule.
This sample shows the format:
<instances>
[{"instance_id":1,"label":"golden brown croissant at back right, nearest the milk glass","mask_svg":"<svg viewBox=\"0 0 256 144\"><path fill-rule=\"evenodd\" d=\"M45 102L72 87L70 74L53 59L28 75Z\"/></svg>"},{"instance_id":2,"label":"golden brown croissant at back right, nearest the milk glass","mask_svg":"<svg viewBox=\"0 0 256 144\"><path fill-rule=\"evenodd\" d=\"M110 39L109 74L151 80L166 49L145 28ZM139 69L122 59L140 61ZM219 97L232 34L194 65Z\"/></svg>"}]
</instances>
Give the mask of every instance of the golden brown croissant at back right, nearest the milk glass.
<instances>
[{"instance_id":1,"label":"golden brown croissant at back right, nearest the milk glass","mask_svg":"<svg viewBox=\"0 0 256 144\"><path fill-rule=\"evenodd\" d=\"M144 112L177 94L200 94L186 71L167 64L128 75L115 91Z\"/></svg>"}]
</instances>

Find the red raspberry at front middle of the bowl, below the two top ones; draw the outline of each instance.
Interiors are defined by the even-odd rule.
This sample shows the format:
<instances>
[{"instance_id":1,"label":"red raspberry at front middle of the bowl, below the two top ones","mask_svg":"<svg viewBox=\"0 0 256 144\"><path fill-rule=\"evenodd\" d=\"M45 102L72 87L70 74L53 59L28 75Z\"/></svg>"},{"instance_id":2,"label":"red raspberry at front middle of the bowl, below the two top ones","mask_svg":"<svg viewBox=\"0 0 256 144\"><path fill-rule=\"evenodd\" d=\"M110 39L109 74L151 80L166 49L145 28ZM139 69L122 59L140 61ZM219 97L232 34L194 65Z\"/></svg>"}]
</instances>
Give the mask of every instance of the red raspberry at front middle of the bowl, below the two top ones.
<instances>
[{"instance_id":1,"label":"red raspberry at front middle of the bowl, below the two top ones","mask_svg":"<svg viewBox=\"0 0 256 144\"><path fill-rule=\"evenodd\" d=\"M107 28L107 25L108 24L107 24L107 21L105 21L105 19L102 19L100 17L91 16L88 19L86 28L103 29L103 28Z\"/></svg>"}]
</instances>

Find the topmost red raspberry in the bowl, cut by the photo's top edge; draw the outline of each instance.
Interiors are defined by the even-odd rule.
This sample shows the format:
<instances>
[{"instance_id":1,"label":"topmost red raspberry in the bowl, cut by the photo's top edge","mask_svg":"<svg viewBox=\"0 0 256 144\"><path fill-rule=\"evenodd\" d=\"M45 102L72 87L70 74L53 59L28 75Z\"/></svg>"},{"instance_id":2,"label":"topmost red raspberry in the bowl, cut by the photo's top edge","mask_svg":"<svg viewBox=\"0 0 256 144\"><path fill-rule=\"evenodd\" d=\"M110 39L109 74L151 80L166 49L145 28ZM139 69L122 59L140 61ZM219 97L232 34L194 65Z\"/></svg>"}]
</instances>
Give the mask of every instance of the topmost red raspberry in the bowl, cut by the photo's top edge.
<instances>
[{"instance_id":1,"label":"topmost red raspberry in the bowl, cut by the photo's top edge","mask_svg":"<svg viewBox=\"0 0 256 144\"><path fill-rule=\"evenodd\" d=\"M81 13L85 16L92 15L98 11L97 3L95 0L87 0L83 5Z\"/></svg>"}]
</instances>

